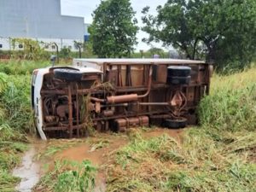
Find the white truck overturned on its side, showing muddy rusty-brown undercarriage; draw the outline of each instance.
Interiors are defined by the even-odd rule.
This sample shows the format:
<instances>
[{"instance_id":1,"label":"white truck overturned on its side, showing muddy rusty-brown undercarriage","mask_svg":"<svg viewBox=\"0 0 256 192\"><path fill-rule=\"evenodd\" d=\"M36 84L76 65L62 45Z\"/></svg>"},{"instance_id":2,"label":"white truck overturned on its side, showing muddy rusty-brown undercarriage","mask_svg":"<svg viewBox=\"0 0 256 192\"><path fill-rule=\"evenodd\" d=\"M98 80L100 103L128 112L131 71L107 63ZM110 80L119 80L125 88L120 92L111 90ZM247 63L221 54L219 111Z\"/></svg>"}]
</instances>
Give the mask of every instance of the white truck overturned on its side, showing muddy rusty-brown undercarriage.
<instances>
[{"instance_id":1,"label":"white truck overturned on its side, showing muddy rusty-brown undercarriage","mask_svg":"<svg viewBox=\"0 0 256 192\"><path fill-rule=\"evenodd\" d=\"M70 67L36 69L35 125L44 140L81 137L89 128L196 125L211 74L204 61L172 59L74 59Z\"/></svg>"}]
</instances>

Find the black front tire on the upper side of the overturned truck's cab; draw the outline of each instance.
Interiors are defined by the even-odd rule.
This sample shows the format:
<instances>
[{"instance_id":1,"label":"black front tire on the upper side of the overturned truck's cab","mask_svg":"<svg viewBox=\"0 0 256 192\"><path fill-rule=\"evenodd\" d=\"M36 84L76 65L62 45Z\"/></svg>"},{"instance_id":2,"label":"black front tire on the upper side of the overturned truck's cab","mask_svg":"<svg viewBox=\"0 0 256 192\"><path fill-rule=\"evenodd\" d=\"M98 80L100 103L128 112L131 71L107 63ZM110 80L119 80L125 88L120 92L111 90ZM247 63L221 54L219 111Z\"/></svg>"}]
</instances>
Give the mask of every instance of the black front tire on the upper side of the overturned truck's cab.
<instances>
[{"instance_id":1,"label":"black front tire on the upper side of the overturned truck's cab","mask_svg":"<svg viewBox=\"0 0 256 192\"><path fill-rule=\"evenodd\" d=\"M68 81L78 81L81 80L83 73L79 70L72 68L56 68L54 70L54 77L56 79L65 79Z\"/></svg>"}]
</instances>

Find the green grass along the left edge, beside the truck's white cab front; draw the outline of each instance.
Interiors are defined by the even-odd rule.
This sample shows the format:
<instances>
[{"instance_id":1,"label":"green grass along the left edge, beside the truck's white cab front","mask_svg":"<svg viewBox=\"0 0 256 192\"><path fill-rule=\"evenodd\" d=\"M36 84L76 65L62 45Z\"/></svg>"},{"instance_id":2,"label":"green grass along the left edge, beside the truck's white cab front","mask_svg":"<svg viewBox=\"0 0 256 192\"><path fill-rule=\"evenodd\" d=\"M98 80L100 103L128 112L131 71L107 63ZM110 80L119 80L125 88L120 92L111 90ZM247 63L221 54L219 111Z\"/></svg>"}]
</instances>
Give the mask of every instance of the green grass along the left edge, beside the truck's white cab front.
<instances>
[{"instance_id":1,"label":"green grass along the left edge, beside the truck's white cab front","mask_svg":"<svg viewBox=\"0 0 256 192\"><path fill-rule=\"evenodd\" d=\"M11 170L20 163L20 153L26 150L24 134L32 125L30 110L30 77L0 73L0 191L14 191Z\"/></svg>"}]
</instances>

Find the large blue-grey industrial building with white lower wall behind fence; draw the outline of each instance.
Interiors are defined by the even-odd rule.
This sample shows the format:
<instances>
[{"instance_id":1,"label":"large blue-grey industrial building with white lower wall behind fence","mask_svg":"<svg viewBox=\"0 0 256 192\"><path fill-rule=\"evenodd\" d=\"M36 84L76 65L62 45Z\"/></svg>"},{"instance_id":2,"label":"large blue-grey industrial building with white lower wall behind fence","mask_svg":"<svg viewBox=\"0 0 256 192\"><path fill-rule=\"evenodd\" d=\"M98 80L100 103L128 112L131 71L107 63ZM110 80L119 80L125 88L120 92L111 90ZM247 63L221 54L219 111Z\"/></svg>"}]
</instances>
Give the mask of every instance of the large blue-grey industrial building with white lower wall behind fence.
<instances>
[{"instance_id":1,"label":"large blue-grey industrial building with white lower wall behind fence","mask_svg":"<svg viewBox=\"0 0 256 192\"><path fill-rule=\"evenodd\" d=\"M55 44L76 51L74 41L84 42L87 26L83 17L61 15L61 0L0 0L0 50L13 49L11 38L32 38L49 51Z\"/></svg>"}]
</instances>

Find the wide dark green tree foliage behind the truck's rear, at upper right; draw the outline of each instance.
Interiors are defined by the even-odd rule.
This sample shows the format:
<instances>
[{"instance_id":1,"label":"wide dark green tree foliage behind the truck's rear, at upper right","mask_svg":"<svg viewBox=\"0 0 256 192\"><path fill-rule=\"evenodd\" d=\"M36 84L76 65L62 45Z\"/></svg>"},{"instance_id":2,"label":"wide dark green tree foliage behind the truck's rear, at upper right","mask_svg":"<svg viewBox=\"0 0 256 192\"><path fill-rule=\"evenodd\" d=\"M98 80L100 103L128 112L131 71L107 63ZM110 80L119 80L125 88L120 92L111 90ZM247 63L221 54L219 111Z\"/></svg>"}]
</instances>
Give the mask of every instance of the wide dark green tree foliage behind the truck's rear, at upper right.
<instances>
[{"instance_id":1,"label":"wide dark green tree foliage behind the truck's rear, at upper right","mask_svg":"<svg viewBox=\"0 0 256 192\"><path fill-rule=\"evenodd\" d=\"M168 0L157 12L143 9L148 43L162 41L218 68L242 68L256 53L255 0Z\"/></svg>"}]
</instances>

